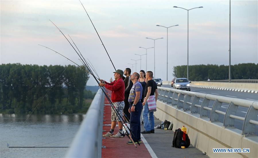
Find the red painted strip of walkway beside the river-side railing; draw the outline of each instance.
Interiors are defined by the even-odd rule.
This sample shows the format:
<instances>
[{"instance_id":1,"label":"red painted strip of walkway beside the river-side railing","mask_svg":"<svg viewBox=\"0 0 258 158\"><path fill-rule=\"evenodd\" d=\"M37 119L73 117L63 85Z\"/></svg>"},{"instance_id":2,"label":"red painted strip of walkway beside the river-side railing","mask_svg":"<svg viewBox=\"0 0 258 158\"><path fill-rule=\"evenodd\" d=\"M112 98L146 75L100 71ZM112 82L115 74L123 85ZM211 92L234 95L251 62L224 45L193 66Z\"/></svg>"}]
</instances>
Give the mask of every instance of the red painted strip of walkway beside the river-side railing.
<instances>
[{"instance_id":1,"label":"red painted strip of walkway beside the river-side railing","mask_svg":"<svg viewBox=\"0 0 258 158\"><path fill-rule=\"evenodd\" d=\"M109 91L111 94L111 91ZM103 130L108 132L111 127L111 105L109 105L108 100L105 98L104 101L104 120L103 121ZM104 124L109 124L109 126L104 126ZM103 132L103 134L106 134ZM115 128L114 134L117 134L118 126ZM106 146L106 149L102 149L102 157L141 157L148 158L151 157L149 151L146 149L144 143L137 145L137 148L133 144L126 144L130 139L125 136L124 138L115 138L115 137L104 137L102 139L102 146Z\"/></svg>"}]
</instances>

